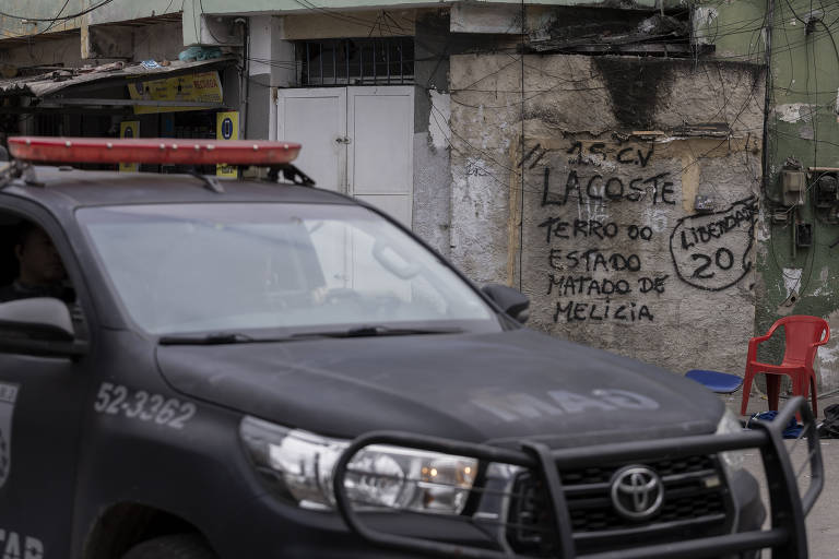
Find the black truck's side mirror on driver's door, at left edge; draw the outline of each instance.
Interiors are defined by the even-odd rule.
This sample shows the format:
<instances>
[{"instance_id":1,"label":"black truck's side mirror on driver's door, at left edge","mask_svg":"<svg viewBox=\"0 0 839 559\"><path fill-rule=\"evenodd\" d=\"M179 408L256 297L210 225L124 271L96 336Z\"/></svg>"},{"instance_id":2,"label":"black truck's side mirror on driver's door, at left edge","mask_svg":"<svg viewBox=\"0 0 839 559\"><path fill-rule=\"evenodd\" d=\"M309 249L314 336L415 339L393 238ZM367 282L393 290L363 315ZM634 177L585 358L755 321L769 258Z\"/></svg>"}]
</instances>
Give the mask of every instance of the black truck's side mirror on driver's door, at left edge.
<instances>
[{"instance_id":1,"label":"black truck's side mirror on driver's door, at left edge","mask_svg":"<svg viewBox=\"0 0 839 559\"><path fill-rule=\"evenodd\" d=\"M33 297L0 304L0 352L71 357L82 353L74 340L70 310L59 299Z\"/></svg>"}]
</instances>

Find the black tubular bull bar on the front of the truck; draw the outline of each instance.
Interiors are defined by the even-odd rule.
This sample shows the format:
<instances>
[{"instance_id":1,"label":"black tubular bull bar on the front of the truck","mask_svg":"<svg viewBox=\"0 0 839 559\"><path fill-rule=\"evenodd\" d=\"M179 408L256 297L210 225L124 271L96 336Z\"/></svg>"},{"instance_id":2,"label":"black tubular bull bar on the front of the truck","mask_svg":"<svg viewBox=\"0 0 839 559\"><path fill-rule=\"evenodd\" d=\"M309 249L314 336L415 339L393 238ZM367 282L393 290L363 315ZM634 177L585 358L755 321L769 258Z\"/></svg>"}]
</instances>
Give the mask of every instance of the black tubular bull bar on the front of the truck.
<instances>
[{"instance_id":1,"label":"black tubular bull bar on the front of the truck","mask_svg":"<svg viewBox=\"0 0 839 559\"><path fill-rule=\"evenodd\" d=\"M784 444L783 430L800 414L804 428L801 437L807 441L807 464L811 483L802 496L790 453ZM763 548L771 548L772 559L805 559L807 538L804 524L824 486L824 464L816 432L815 419L806 401L791 399L771 423L757 421L752 430L731 435L702 435L652 441L619 442L582 448L550 450L536 442L523 441L521 450L503 449L450 439L425 437L399 431L375 431L355 439L342 453L335 465L333 490L339 512L346 525L373 545L433 557L463 557L474 559L531 559L510 550L485 549L468 545L438 542L390 534L374 530L362 521L345 489L348 464L365 447L388 444L480 460L483 464L497 462L512 464L537 473L547 489L552 509L552 528L558 549L558 559L665 559L707 558ZM577 555L571 533L565 493L559 472L605 462L631 463L652 459L678 459L694 454L716 454L723 451L759 449L769 493L771 525L768 530L754 530L725 535L699 537L666 544L642 545L605 552ZM804 464L806 466L807 464ZM802 467L803 469L803 467ZM420 513L423 516L439 516ZM414 516L415 518L415 516ZM464 519L468 520L468 519Z\"/></svg>"}]
</instances>

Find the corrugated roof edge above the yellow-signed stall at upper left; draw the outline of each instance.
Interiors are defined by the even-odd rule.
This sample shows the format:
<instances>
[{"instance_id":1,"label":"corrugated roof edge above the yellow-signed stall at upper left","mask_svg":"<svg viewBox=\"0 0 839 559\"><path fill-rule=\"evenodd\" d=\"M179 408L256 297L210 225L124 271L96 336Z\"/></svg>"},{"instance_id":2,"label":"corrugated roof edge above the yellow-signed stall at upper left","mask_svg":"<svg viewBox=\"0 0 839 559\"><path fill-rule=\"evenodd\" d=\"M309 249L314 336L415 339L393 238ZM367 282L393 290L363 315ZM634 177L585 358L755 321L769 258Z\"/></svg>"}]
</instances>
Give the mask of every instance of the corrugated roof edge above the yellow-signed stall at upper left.
<instances>
[{"instance_id":1,"label":"corrugated roof edge above the yellow-signed stall at upper left","mask_svg":"<svg viewBox=\"0 0 839 559\"><path fill-rule=\"evenodd\" d=\"M94 69L68 68L56 70L46 74L28 78L15 78L0 80L0 95L28 95L33 97L48 97L57 92L76 85L92 84L115 79L155 79L166 78L173 73L213 64L231 63L236 57L222 57L212 60L194 62L181 62L175 60L169 66L159 68L146 68L141 63L119 68L115 64L105 64Z\"/></svg>"}]
</instances>

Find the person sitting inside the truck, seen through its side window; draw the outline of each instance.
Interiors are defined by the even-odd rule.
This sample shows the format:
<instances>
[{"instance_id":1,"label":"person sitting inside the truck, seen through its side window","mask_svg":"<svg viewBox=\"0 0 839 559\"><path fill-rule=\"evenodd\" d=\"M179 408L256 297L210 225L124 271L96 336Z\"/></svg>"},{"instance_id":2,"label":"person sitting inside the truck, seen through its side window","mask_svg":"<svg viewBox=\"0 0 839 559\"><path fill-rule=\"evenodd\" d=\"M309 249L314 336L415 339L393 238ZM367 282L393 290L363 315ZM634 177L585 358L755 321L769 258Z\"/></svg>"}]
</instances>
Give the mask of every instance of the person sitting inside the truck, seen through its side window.
<instances>
[{"instance_id":1,"label":"person sitting inside the truck, seen through its side window","mask_svg":"<svg viewBox=\"0 0 839 559\"><path fill-rule=\"evenodd\" d=\"M31 297L55 297L64 302L75 299L66 283L61 257L44 229L32 222L21 222L14 231L12 250L17 274L11 284L0 287L0 302Z\"/></svg>"}]
</instances>

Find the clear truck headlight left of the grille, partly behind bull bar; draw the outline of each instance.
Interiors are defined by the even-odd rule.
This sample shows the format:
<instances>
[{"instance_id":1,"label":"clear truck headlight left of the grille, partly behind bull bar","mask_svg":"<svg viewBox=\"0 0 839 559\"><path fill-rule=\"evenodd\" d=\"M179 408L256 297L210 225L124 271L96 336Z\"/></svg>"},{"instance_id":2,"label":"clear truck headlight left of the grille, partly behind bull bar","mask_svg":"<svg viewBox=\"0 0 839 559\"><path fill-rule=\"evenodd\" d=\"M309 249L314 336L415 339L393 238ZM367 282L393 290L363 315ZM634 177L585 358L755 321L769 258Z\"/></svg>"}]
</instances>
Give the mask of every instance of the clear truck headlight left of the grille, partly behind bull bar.
<instances>
[{"instance_id":1,"label":"clear truck headlight left of the grille, partly behind bull bar","mask_svg":"<svg viewBox=\"0 0 839 559\"><path fill-rule=\"evenodd\" d=\"M350 441L255 417L243 419L239 433L253 464L280 492L303 508L334 508L334 466ZM355 454L344 487L359 508L460 514L477 465L465 456L377 444Z\"/></svg>"}]
</instances>

